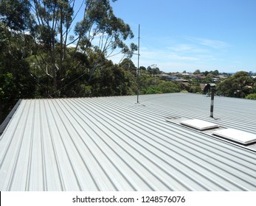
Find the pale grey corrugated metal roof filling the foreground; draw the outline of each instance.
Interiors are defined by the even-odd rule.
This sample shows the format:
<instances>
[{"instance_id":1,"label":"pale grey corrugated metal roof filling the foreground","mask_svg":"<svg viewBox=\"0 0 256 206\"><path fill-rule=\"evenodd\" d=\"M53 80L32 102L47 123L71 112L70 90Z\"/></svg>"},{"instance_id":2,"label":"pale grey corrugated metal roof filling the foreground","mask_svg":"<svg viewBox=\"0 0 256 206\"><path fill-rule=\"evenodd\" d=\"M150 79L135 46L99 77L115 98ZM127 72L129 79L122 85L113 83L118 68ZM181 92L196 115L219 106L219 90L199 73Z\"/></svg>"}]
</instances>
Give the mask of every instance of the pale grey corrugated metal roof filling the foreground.
<instances>
[{"instance_id":1,"label":"pale grey corrugated metal roof filling the foreground","mask_svg":"<svg viewBox=\"0 0 256 206\"><path fill-rule=\"evenodd\" d=\"M172 93L22 100L0 136L1 191L256 191L256 152L165 121L256 133L256 101Z\"/></svg>"}]
</instances>

